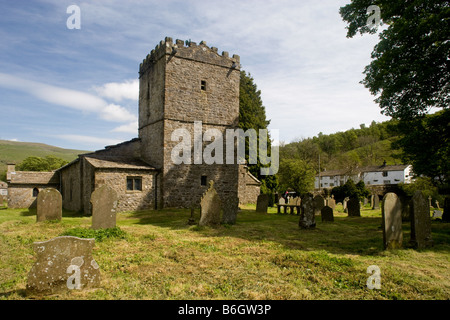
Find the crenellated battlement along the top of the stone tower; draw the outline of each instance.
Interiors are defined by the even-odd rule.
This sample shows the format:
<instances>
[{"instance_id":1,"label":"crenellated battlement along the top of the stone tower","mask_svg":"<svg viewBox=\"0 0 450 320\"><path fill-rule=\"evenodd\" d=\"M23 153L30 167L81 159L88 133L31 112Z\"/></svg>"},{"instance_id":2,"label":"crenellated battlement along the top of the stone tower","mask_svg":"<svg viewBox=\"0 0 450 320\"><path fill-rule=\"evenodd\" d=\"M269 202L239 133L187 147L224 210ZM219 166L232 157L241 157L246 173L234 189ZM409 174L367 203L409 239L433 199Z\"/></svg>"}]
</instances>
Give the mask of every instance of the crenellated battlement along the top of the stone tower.
<instances>
[{"instance_id":1,"label":"crenellated battlement along the top of the stone tower","mask_svg":"<svg viewBox=\"0 0 450 320\"><path fill-rule=\"evenodd\" d=\"M219 54L216 47L208 47L205 41L201 41L197 45L196 42L190 40L177 39L173 42L172 38L166 37L142 61L139 66L139 74L142 75L151 65L165 56L194 60L224 68L240 69L240 57L236 54L231 58L228 51L222 51L222 54Z\"/></svg>"}]
</instances>

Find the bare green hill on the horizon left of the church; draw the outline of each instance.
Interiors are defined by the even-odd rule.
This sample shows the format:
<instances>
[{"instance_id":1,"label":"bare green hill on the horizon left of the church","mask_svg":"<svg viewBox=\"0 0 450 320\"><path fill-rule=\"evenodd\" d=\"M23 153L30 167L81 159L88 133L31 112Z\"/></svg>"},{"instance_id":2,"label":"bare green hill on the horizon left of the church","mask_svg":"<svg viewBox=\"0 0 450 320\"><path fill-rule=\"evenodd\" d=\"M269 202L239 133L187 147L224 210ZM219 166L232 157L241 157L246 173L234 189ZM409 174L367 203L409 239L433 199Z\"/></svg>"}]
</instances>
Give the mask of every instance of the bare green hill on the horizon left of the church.
<instances>
[{"instance_id":1,"label":"bare green hill on the horizon left of the church","mask_svg":"<svg viewBox=\"0 0 450 320\"><path fill-rule=\"evenodd\" d=\"M30 156L45 157L49 155L72 161L79 154L87 152L89 151L63 149L43 143L0 140L0 180L5 180L6 164L9 162L19 164Z\"/></svg>"}]
</instances>

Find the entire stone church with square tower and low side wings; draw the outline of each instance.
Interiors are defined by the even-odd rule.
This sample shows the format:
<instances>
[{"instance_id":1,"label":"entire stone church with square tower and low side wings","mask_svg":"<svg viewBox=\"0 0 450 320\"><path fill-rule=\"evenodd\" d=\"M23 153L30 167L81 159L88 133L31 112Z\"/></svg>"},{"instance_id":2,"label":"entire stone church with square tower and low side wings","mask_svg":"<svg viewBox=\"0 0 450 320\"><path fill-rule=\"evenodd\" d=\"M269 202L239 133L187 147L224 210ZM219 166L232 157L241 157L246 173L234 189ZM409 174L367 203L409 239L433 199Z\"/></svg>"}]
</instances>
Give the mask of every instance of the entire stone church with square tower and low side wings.
<instances>
[{"instance_id":1,"label":"entire stone church with square tower and low side wings","mask_svg":"<svg viewBox=\"0 0 450 320\"><path fill-rule=\"evenodd\" d=\"M210 180L223 201L256 203L260 182L245 165L175 164L171 157L176 129L194 136L194 122L201 121L203 132L214 128L225 137L226 129L238 127L239 68L237 55L166 37L139 67L138 138L79 155L52 173L16 172L10 165L9 206L30 207L51 186L65 209L89 214L91 193L104 184L116 190L118 211L198 206Z\"/></svg>"}]
</instances>

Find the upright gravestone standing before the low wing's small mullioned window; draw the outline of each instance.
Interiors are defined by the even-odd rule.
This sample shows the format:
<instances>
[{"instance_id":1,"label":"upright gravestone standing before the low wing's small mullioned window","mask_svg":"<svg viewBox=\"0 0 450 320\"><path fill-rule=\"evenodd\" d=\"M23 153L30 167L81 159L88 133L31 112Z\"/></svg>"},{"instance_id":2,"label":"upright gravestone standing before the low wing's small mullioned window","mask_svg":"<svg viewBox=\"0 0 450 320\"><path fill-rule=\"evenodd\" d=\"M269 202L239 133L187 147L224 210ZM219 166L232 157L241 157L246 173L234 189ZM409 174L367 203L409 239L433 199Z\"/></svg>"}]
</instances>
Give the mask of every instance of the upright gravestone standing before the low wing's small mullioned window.
<instances>
[{"instance_id":1,"label":"upright gravestone standing before the low wing's small mullioned window","mask_svg":"<svg viewBox=\"0 0 450 320\"><path fill-rule=\"evenodd\" d=\"M92 229L108 229L116 226L117 193L102 185L91 194Z\"/></svg>"}]
</instances>

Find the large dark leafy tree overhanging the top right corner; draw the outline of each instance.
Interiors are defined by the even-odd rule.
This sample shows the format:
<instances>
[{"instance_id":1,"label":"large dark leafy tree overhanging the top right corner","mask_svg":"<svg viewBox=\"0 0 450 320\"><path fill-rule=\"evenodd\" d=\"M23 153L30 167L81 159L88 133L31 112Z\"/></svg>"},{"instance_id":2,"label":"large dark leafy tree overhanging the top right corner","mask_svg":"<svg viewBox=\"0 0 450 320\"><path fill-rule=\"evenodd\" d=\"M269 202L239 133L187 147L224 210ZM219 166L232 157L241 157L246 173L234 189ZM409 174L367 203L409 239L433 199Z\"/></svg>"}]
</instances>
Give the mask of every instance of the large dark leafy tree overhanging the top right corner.
<instances>
[{"instance_id":1,"label":"large dark leafy tree overhanging the top right corner","mask_svg":"<svg viewBox=\"0 0 450 320\"><path fill-rule=\"evenodd\" d=\"M352 0L340 8L347 37L375 33L367 24L370 5L380 8L381 23L372 62L362 83L382 112L398 119L450 105L450 6L443 0Z\"/></svg>"}]
</instances>

